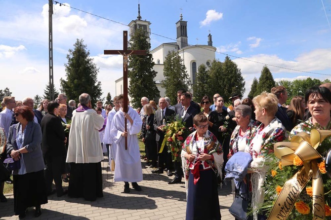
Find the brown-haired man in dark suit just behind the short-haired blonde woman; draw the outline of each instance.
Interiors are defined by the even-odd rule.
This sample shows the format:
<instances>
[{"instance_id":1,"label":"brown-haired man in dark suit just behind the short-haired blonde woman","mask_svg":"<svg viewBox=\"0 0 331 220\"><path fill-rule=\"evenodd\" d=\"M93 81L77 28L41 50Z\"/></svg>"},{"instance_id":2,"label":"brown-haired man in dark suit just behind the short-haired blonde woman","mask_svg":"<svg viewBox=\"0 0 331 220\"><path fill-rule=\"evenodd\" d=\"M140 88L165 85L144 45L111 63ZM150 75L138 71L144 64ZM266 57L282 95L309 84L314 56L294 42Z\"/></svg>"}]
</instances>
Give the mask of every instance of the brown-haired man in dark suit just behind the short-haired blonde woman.
<instances>
[{"instance_id":1,"label":"brown-haired man in dark suit just behind the short-haired blonde woman","mask_svg":"<svg viewBox=\"0 0 331 220\"><path fill-rule=\"evenodd\" d=\"M276 112L276 117L282 122L286 130L291 131L293 128L292 122L290 121L289 116L286 113L287 108L282 105L286 103L288 99L288 92L286 88L282 85L273 87L271 93L275 94L278 99L278 110Z\"/></svg>"}]
</instances>

